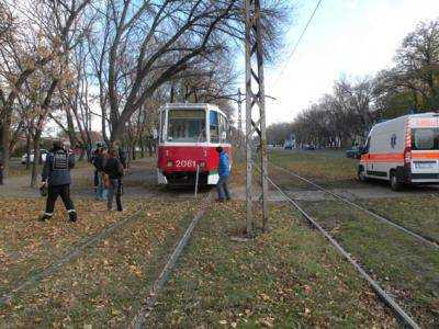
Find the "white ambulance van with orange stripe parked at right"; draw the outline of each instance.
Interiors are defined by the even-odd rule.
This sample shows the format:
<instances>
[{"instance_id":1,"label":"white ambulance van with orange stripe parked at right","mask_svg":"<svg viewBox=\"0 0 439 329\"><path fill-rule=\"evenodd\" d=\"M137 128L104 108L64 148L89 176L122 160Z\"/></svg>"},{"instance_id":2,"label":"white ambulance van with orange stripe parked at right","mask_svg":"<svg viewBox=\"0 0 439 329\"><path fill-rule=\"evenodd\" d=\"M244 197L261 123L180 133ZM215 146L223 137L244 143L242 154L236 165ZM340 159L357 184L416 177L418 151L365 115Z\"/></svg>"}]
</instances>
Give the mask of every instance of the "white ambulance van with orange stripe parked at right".
<instances>
[{"instance_id":1,"label":"white ambulance van with orange stripe parked at right","mask_svg":"<svg viewBox=\"0 0 439 329\"><path fill-rule=\"evenodd\" d=\"M392 190L439 183L439 113L410 114L374 125L361 149L360 181L379 179Z\"/></svg>"}]
</instances>

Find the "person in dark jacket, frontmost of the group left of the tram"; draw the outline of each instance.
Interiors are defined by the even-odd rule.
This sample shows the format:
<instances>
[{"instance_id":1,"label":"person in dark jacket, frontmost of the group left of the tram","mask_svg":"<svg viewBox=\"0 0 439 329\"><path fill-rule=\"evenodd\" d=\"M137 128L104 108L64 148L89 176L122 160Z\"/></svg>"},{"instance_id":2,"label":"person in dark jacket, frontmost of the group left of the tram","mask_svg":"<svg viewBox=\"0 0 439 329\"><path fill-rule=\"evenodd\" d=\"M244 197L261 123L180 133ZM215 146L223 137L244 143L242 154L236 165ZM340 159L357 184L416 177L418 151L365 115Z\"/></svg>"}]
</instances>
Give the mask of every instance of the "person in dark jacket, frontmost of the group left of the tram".
<instances>
[{"instance_id":1,"label":"person in dark jacket, frontmost of the group left of the tram","mask_svg":"<svg viewBox=\"0 0 439 329\"><path fill-rule=\"evenodd\" d=\"M124 168L121 160L117 158L117 151L111 149L109 152L109 159L106 160L103 171L109 175L110 185L108 194L108 209L111 211L113 207L113 197L116 196L117 212L122 212L122 177L124 174Z\"/></svg>"}]
</instances>

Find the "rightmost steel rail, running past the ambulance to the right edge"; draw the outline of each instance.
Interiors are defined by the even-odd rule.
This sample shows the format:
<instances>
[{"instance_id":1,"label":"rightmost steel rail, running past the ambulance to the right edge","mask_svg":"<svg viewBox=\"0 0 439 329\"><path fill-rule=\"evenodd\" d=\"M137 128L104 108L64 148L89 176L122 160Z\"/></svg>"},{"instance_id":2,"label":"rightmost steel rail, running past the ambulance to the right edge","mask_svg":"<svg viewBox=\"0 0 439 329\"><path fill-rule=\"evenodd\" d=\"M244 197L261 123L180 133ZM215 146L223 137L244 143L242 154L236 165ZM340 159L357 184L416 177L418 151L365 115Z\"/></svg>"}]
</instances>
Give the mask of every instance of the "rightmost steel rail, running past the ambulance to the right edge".
<instances>
[{"instance_id":1,"label":"rightmost steel rail, running past the ambulance to the right edge","mask_svg":"<svg viewBox=\"0 0 439 329\"><path fill-rule=\"evenodd\" d=\"M403 232L405 232L407 235L410 235L412 237L414 237L415 239L419 240L420 242L429 245L432 248L435 248L436 250L439 250L439 245L438 245L438 242L436 240L427 238L427 237L424 237L424 236L421 236L421 235L419 235L417 232L414 232L414 231L409 230L408 228L405 228L404 226L401 226L401 225L398 225L398 224L396 224L396 223L394 223L394 222L392 222L392 220L390 220L387 218L384 218L383 216L381 216L381 215L379 215L379 214L376 214L376 213L374 213L374 212L372 212L372 211L370 211L370 209L368 209L368 208L365 208L365 207L363 207L363 206L361 206L359 204L356 204L356 203L342 197L341 195L339 195L337 193L334 193L334 192L331 192L331 191L329 191L329 190L327 190L325 188L322 188L320 185L314 183L313 181L311 181L311 180L308 180L306 178L301 177L300 174L297 174L297 173L295 173L295 172L293 172L291 170L288 170L288 169L285 169L283 167L274 164L273 162L270 162L270 164L275 167L275 168L278 168L281 171L284 171L284 172L286 172L286 173L289 173L289 174L291 174L291 175L293 175L293 177L295 177L295 178L297 178L297 179L300 179L300 180L302 180L302 181L315 186L316 189L320 190L322 192L325 192L325 193L338 198L339 201L342 201L346 204L349 204L350 206L367 213L368 215L379 219L380 222L385 223L385 224L387 224L390 226L393 226L394 228L396 228L396 229L398 229L398 230L401 230L401 231L403 231Z\"/></svg>"}]
</instances>

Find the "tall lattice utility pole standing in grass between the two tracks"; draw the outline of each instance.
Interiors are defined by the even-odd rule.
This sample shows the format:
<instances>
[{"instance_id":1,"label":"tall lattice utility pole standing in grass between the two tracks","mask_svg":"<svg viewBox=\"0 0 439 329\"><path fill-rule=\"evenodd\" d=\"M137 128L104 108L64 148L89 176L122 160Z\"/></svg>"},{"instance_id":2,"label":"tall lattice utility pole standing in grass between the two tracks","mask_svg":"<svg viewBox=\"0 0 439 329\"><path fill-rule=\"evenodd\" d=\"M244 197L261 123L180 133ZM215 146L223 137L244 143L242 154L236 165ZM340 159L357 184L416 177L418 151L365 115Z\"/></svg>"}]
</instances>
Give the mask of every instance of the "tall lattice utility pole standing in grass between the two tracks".
<instances>
[{"instance_id":1,"label":"tall lattice utility pole standing in grass between the two tracks","mask_svg":"<svg viewBox=\"0 0 439 329\"><path fill-rule=\"evenodd\" d=\"M246 206L247 235L252 236L252 155L251 139L256 132L260 139L259 154L261 160L262 182L262 229L268 222L268 181L267 181L267 134L266 134L266 90L263 82L263 49L260 24L260 1L246 0ZM256 93L252 86L255 86ZM257 120L252 120L254 109L259 109ZM258 152L258 150L257 150Z\"/></svg>"}]
</instances>

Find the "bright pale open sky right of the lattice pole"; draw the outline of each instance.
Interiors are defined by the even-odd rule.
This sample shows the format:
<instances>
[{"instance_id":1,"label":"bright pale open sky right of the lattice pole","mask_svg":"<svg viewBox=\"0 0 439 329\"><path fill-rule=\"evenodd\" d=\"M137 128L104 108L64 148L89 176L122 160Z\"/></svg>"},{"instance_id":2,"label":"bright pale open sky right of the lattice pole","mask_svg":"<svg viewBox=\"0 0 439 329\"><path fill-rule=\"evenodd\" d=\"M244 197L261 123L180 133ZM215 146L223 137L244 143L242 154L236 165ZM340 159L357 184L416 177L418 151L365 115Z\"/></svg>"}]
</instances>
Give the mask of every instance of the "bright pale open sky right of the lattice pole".
<instances>
[{"instance_id":1,"label":"bright pale open sky right of the lattice pole","mask_svg":"<svg viewBox=\"0 0 439 329\"><path fill-rule=\"evenodd\" d=\"M334 81L390 68L403 38L420 21L439 18L439 0L323 0L288 59L317 0L296 0L281 60L264 68L267 123L291 122L330 93Z\"/></svg>"}]
</instances>

